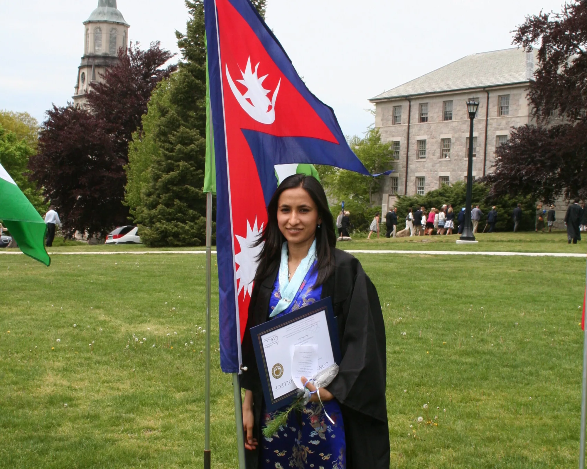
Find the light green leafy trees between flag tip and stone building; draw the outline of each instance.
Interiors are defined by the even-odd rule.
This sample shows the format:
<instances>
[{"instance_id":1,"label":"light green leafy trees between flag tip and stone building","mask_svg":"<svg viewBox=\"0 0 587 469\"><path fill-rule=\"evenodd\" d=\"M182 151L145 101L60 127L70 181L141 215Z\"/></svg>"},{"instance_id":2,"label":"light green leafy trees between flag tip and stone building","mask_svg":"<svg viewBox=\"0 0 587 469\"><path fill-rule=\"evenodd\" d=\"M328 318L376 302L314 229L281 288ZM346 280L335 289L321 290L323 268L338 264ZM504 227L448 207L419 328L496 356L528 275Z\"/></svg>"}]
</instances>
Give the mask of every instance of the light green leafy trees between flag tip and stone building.
<instances>
[{"instance_id":1,"label":"light green leafy trees between flag tip and stone building","mask_svg":"<svg viewBox=\"0 0 587 469\"><path fill-rule=\"evenodd\" d=\"M355 135L349 138L348 143L371 174L392 169L391 144L381 141L378 129L370 128L364 138ZM365 230L375 214L381 211L378 203L377 207L373 206L373 194L380 190L384 176L373 178L345 169L329 169L325 166L319 166L318 172L330 201L336 203L332 208L333 213L338 215L340 203L344 200L345 209L351 212L354 228Z\"/></svg>"}]
</instances>

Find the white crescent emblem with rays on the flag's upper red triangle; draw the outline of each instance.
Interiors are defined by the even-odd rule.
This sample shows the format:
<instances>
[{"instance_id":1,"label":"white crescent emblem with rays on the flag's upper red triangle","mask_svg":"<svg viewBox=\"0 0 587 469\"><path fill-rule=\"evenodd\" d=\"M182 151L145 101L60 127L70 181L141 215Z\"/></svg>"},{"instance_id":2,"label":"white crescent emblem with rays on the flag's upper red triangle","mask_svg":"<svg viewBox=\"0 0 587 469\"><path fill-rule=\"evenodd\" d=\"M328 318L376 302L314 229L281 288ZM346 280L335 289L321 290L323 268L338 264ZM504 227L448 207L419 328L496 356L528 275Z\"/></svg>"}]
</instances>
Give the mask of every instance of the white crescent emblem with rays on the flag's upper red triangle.
<instances>
[{"instance_id":1,"label":"white crescent emblem with rays on the flag's upper red triangle","mask_svg":"<svg viewBox=\"0 0 587 469\"><path fill-rule=\"evenodd\" d=\"M230 72L228 72L228 64L226 64L228 84L230 84L230 89L232 90L234 97L237 98L238 104L241 105L241 107L248 115L261 124L273 124L275 121L275 100L277 99L277 93L279 93L281 78L279 79L279 83L275 88L271 101L269 101L267 94L271 90L266 90L263 87L263 81L266 79L266 77L268 77L268 75L264 75L259 78L257 76L258 69L259 64L255 65L255 72L252 71L251 57L249 57L245 71L243 72L240 70L242 80L237 80L238 83L244 84L244 86L247 87L247 92L245 94L241 94L237 86L234 84L234 81L232 81ZM247 99L250 100L250 102L247 101Z\"/></svg>"}]
</instances>

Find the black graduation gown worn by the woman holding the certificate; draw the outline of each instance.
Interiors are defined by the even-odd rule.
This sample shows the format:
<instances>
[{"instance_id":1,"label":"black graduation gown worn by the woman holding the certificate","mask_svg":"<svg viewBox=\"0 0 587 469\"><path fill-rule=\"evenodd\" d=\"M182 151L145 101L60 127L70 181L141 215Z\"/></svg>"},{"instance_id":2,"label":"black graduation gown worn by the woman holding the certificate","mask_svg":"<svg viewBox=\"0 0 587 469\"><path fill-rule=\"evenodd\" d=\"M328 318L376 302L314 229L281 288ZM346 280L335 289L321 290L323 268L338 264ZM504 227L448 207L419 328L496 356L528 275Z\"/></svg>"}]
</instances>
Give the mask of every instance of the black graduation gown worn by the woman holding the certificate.
<instances>
[{"instance_id":1,"label":"black graduation gown worn by the woman holding the certificate","mask_svg":"<svg viewBox=\"0 0 587 469\"><path fill-rule=\"evenodd\" d=\"M389 469L389 427L385 400L386 342L379 296L355 257L334 250L335 271L322 287L322 298L331 297L339 321L342 361L328 390L340 404L345 422L346 467ZM252 349L250 328L268 319L269 300L277 270L256 283L249 304L247 329L242 343L241 387L254 396L256 451L245 450L247 469L261 467L261 406L263 392Z\"/></svg>"}]
</instances>

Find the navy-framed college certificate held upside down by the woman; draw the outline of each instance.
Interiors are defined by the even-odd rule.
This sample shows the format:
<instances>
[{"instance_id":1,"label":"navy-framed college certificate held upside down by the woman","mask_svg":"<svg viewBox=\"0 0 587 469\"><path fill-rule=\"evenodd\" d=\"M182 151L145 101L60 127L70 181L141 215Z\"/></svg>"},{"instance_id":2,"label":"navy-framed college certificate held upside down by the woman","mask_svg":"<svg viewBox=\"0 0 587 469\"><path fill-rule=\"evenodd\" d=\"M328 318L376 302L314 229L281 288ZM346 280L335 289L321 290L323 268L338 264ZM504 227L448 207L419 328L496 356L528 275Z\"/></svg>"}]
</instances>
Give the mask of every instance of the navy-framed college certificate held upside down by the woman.
<instances>
[{"instance_id":1,"label":"navy-framed college certificate held upside down by the woman","mask_svg":"<svg viewBox=\"0 0 587 469\"><path fill-rule=\"evenodd\" d=\"M251 338L268 412L290 405L298 395L291 376L292 346L318 345L318 369L340 364L338 325L330 297L252 327Z\"/></svg>"}]
</instances>

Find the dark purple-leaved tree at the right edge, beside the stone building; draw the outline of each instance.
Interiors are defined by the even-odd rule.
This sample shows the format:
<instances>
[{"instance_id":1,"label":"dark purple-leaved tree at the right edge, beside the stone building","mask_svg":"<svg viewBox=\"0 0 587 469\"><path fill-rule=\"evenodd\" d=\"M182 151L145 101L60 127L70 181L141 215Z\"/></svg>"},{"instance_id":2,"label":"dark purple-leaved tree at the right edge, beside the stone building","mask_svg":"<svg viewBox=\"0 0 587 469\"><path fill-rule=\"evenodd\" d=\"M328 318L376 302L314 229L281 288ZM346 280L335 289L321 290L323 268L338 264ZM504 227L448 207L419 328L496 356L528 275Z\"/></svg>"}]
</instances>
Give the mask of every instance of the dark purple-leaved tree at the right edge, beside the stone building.
<instances>
[{"instance_id":1,"label":"dark purple-leaved tree at the right edge, beside the stone building","mask_svg":"<svg viewBox=\"0 0 587 469\"><path fill-rule=\"evenodd\" d=\"M537 125L512 130L495 152L491 193L529 195L552 203L587 198L587 2L572 1L561 13L530 15L514 44L538 46L539 67L528 97ZM565 123L552 126L552 117Z\"/></svg>"}]
</instances>

